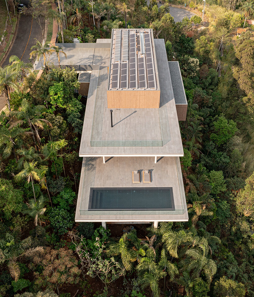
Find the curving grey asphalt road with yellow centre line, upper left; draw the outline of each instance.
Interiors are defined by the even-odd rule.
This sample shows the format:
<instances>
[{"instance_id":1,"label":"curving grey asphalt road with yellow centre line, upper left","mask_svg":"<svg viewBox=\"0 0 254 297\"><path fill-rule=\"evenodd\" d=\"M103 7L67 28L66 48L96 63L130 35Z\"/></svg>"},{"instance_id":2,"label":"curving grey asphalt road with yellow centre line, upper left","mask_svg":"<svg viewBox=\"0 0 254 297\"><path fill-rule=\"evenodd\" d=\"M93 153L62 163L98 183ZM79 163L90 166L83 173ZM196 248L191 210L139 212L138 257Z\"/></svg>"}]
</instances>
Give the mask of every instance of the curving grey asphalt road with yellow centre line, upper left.
<instances>
[{"instance_id":1,"label":"curving grey asphalt road with yellow centre line, upper left","mask_svg":"<svg viewBox=\"0 0 254 297\"><path fill-rule=\"evenodd\" d=\"M41 21L41 24L42 28L44 28L44 20ZM29 54L31 47L36 44L35 38L40 42L43 40L39 24L35 19L32 19L32 17L21 14L16 39L3 66L9 64L9 58L12 55L18 56L25 63L31 62Z\"/></svg>"}]
</instances>

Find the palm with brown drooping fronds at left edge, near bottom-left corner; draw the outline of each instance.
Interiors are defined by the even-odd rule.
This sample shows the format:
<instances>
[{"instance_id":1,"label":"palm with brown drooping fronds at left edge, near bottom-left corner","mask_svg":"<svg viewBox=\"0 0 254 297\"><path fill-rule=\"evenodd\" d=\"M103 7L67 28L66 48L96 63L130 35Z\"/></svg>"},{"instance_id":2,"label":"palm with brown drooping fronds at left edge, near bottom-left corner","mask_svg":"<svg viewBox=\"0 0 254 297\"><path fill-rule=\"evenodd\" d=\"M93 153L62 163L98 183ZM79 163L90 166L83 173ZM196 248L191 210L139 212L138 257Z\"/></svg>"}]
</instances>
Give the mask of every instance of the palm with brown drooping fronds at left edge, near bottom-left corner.
<instances>
[{"instance_id":1,"label":"palm with brown drooping fronds at left edge, near bottom-left corner","mask_svg":"<svg viewBox=\"0 0 254 297\"><path fill-rule=\"evenodd\" d=\"M43 252L43 247L31 248L31 237L20 241L16 232L6 233L5 238L0 239L0 263L7 262L11 277L17 281L20 276L20 258L32 256L37 252Z\"/></svg>"}]
</instances>

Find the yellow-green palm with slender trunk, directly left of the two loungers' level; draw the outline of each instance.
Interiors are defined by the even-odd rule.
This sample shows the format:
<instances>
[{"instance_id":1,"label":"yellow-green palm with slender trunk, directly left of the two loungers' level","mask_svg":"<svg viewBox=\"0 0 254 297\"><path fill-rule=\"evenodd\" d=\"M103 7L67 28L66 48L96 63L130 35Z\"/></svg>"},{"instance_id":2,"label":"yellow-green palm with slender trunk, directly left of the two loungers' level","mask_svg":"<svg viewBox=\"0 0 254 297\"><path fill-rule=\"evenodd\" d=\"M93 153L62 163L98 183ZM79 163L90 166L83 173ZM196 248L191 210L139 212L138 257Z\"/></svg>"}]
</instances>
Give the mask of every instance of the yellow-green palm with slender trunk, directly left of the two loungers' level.
<instances>
[{"instance_id":1,"label":"yellow-green palm with slender trunk, directly left of the two loungers' level","mask_svg":"<svg viewBox=\"0 0 254 297\"><path fill-rule=\"evenodd\" d=\"M24 169L22 169L19 173L14 176L14 180L16 182L20 182L21 180L25 179L29 183L32 182L33 193L34 193L34 181L40 181L39 170L37 168L38 161L25 161L23 163ZM36 197L34 193L34 200L36 202Z\"/></svg>"}]
</instances>

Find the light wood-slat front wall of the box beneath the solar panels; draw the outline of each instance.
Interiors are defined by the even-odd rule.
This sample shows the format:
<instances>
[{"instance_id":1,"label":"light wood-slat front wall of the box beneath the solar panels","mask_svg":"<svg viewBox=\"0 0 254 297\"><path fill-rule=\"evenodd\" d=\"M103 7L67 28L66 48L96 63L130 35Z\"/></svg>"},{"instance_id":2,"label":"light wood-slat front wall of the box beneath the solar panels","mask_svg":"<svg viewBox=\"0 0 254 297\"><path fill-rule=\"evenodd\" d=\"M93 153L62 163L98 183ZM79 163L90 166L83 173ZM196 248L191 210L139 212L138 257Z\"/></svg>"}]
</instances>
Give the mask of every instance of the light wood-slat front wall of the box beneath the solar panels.
<instances>
[{"instance_id":1,"label":"light wood-slat front wall of the box beneath the solar panels","mask_svg":"<svg viewBox=\"0 0 254 297\"><path fill-rule=\"evenodd\" d=\"M108 90L108 108L159 108L160 92L160 90Z\"/></svg>"}]
</instances>

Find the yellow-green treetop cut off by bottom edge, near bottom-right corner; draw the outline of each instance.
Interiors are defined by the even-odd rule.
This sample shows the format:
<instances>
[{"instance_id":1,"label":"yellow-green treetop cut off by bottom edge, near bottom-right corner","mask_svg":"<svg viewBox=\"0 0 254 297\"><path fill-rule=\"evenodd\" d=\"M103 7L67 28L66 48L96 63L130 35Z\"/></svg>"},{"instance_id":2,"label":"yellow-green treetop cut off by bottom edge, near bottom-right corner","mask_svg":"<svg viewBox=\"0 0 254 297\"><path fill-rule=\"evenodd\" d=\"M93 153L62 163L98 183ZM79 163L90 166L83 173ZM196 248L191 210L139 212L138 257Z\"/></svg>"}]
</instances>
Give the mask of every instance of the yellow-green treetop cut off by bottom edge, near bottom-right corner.
<instances>
[{"instance_id":1,"label":"yellow-green treetop cut off by bottom edge, near bottom-right corner","mask_svg":"<svg viewBox=\"0 0 254 297\"><path fill-rule=\"evenodd\" d=\"M242 283L230 280L226 276L217 280L214 285L215 296L218 297L244 297L245 288Z\"/></svg>"}]
</instances>

